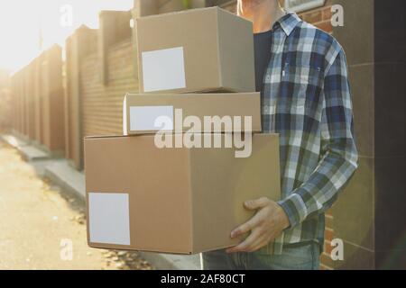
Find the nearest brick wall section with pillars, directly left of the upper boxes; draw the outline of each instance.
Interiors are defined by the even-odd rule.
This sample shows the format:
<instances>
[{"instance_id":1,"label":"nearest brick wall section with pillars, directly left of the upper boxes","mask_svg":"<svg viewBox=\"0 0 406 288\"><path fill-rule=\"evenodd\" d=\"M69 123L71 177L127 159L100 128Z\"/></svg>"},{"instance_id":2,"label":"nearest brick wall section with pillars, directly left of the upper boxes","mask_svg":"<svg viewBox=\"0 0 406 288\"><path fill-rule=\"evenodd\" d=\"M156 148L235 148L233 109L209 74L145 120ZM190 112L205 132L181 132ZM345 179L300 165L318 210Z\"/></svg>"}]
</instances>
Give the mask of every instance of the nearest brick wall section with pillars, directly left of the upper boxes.
<instances>
[{"instance_id":1,"label":"nearest brick wall section with pillars, directly left of the upper boxes","mask_svg":"<svg viewBox=\"0 0 406 288\"><path fill-rule=\"evenodd\" d=\"M83 169L83 138L121 135L123 99L138 92L129 11L103 11L99 29L81 26L67 40L67 157Z\"/></svg>"}]
</instances>

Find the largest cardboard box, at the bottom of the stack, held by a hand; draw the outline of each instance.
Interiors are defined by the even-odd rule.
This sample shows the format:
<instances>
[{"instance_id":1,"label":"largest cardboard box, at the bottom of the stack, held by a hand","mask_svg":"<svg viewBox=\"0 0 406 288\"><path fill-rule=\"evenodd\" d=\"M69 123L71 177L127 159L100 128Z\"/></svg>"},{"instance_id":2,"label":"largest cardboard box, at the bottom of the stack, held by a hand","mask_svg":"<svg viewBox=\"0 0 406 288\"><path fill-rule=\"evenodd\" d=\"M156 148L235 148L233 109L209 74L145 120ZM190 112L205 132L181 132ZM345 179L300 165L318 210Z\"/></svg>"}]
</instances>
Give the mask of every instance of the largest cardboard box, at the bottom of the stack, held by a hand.
<instances>
[{"instance_id":1,"label":"largest cardboard box, at the bottom of the stack, held by a hand","mask_svg":"<svg viewBox=\"0 0 406 288\"><path fill-rule=\"evenodd\" d=\"M90 137L85 175L88 246L215 250L243 239L229 237L254 215L243 202L280 199L279 138L254 134L251 157L237 158L235 148L156 148L152 135Z\"/></svg>"}]
</instances>

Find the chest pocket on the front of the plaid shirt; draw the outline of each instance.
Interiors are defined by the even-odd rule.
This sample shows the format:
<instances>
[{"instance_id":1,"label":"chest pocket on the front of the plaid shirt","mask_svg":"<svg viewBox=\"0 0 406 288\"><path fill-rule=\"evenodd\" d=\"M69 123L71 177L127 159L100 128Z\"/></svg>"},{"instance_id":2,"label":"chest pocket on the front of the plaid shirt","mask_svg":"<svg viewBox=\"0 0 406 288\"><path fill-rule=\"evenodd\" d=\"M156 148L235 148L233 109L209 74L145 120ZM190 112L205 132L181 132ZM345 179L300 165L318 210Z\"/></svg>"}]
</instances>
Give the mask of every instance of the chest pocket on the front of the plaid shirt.
<instances>
[{"instance_id":1,"label":"chest pocket on the front of the plaid shirt","mask_svg":"<svg viewBox=\"0 0 406 288\"><path fill-rule=\"evenodd\" d=\"M321 67L286 63L281 75L281 108L295 114L317 109L322 85Z\"/></svg>"}]
</instances>

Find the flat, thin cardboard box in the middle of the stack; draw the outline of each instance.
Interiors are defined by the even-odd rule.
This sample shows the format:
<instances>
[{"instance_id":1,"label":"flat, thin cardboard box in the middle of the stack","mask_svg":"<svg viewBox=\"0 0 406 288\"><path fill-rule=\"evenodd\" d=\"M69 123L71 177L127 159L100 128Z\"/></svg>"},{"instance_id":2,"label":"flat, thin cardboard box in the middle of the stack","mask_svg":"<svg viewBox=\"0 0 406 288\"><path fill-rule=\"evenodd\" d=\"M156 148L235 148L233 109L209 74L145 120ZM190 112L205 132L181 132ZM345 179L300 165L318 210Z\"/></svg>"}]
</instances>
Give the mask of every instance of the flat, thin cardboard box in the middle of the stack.
<instances>
[{"instance_id":1,"label":"flat, thin cardboard box in the middle of the stack","mask_svg":"<svg viewBox=\"0 0 406 288\"><path fill-rule=\"evenodd\" d=\"M260 132L261 95L126 94L123 116L124 135L156 133L158 130Z\"/></svg>"}]
</instances>

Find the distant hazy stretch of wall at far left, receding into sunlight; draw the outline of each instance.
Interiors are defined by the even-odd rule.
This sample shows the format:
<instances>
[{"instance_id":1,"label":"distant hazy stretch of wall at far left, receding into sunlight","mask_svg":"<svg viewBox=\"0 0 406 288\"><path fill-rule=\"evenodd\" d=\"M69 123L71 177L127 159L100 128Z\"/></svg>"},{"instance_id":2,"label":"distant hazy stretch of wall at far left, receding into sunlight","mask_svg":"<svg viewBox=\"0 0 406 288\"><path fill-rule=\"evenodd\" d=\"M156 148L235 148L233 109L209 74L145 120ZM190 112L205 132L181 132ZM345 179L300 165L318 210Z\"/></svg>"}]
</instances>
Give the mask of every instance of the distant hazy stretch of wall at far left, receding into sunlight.
<instances>
[{"instance_id":1,"label":"distant hazy stretch of wall at far left, receding into sunlight","mask_svg":"<svg viewBox=\"0 0 406 288\"><path fill-rule=\"evenodd\" d=\"M14 131L53 155L64 153L61 48L44 50L11 78Z\"/></svg>"}]
</instances>

